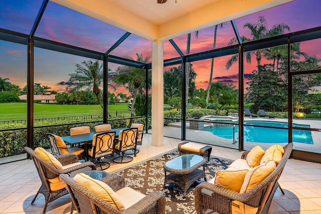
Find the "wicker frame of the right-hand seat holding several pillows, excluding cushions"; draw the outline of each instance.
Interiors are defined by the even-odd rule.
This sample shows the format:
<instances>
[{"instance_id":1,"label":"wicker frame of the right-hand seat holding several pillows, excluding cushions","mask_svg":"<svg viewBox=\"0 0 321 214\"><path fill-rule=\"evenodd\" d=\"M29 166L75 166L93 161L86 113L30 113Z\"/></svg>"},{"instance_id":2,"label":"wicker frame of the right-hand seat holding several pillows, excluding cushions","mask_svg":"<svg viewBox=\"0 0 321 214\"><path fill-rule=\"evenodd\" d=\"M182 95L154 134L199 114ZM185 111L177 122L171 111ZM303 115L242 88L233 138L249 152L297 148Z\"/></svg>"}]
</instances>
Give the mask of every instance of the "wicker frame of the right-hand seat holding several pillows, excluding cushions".
<instances>
[{"instance_id":1,"label":"wicker frame of the right-hand seat holding several pillows, excluding cushions","mask_svg":"<svg viewBox=\"0 0 321 214\"><path fill-rule=\"evenodd\" d=\"M277 181L291 154L292 147L293 143L291 142L283 147L284 154L276 168L260 184L247 193L238 193L209 182L200 183L195 188L195 208L197 213L231 213L233 200L252 207L258 207L256 212L258 214L268 213L273 195L279 186Z\"/></svg>"}]
</instances>

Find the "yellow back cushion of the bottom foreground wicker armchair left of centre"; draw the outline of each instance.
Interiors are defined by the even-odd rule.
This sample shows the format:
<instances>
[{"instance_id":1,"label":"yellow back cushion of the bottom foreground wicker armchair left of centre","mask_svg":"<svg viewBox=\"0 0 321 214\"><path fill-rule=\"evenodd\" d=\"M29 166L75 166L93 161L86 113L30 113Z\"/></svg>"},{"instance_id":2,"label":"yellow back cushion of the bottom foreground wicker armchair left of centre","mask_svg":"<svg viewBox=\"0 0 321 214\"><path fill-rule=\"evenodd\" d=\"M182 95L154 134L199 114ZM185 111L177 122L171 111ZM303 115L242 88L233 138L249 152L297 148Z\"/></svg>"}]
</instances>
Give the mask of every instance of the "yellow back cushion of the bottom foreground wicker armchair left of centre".
<instances>
[{"instance_id":1,"label":"yellow back cushion of the bottom foreground wicker armchair left of centre","mask_svg":"<svg viewBox=\"0 0 321 214\"><path fill-rule=\"evenodd\" d=\"M111 204L119 211L125 210L125 207L119 200L117 194L106 183L100 180L96 180L84 173L76 174L74 179L86 188L88 188L90 191L97 194L99 197L104 199L107 203Z\"/></svg>"}]
</instances>

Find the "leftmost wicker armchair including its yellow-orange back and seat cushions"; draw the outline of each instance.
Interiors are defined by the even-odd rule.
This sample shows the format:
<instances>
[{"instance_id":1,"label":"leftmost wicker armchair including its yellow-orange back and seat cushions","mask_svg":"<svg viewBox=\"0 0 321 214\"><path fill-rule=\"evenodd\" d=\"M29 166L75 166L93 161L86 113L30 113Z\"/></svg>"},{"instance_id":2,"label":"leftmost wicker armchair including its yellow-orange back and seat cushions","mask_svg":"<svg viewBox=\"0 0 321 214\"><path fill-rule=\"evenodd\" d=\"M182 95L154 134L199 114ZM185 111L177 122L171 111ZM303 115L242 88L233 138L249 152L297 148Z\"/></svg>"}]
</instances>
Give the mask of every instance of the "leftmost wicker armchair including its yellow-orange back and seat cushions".
<instances>
[{"instance_id":1,"label":"leftmost wicker armchair including its yellow-orange back and seat cushions","mask_svg":"<svg viewBox=\"0 0 321 214\"><path fill-rule=\"evenodd\" d=\"M39 193L43 194L45 197L43 213L46 212L49 202L69 193L66 184L59 178L61 173L72 177L77 173L96 169L96 165L92 162L79 162L77 155L73 153L54 156L42 147L33 150L26 146L25 150L30 154L41 180L41 186L31 204L35 202Z\"/></svg>"}]
</instances>

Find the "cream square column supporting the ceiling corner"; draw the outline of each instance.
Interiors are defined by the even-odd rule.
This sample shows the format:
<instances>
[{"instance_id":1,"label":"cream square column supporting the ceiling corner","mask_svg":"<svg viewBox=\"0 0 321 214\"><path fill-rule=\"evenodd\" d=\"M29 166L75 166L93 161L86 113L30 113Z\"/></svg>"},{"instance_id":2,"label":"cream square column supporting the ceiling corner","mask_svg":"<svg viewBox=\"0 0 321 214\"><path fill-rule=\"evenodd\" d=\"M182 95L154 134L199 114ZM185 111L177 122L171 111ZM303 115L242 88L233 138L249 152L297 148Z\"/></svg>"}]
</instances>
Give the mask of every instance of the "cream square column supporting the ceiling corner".
<instances>
[{"instance_id":1,"label":"cream square column supporting the ceiling corner","mask_svg":"<svg viewBox=\"0 0 321 214\"><path fill-rule=\"evenodd\" d=\"M163 41L151 43L151 144L164 144L164 58Z\"/></svg>"}]
</instances>

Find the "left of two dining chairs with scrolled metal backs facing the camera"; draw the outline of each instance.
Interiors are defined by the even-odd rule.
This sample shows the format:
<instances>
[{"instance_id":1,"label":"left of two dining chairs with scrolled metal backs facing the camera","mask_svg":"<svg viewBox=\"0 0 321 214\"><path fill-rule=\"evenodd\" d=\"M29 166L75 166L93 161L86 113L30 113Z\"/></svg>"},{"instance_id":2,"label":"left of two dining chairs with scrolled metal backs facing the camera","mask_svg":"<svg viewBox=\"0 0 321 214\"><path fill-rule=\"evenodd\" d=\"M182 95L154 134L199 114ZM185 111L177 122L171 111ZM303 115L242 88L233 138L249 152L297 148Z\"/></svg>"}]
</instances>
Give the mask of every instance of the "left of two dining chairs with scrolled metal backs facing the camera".
<instances>
[{"instance_id":1,"label":"left of two dining chairs with scrolled metal backs facing the camera","mask_svg":"<svg viewBox=\"0 0 321 214\"><path fill-rule=\"evenodd\" d=\"M104 162L102 157L107 155L111 155L112 157L114 156L115 135L116 131L106 131L93 135L92 148L88 150L88 155L91 157L92 162L99 163L101 169L107 169L110 167L110 162ZM107 167L102 168L101 163L104 163Z\"/></svg>"}]
</instances>

